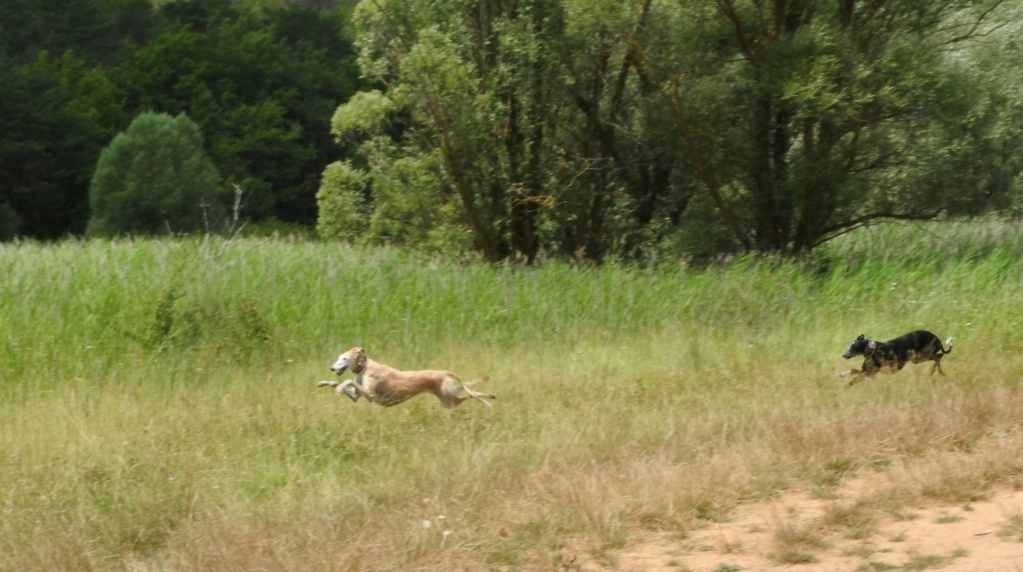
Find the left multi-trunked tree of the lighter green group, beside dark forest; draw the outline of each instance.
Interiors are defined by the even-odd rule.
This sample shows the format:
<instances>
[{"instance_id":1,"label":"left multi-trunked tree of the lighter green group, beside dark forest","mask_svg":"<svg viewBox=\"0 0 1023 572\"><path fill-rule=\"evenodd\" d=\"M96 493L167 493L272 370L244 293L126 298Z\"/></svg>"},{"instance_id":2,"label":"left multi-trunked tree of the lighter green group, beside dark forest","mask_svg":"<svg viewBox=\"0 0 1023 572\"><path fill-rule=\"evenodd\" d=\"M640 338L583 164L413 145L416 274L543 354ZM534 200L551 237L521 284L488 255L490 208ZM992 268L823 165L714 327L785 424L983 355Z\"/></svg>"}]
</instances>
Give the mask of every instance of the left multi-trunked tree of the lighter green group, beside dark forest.
<instances>
[{"instance_id":1,"label":"left multi-trunked tree of the lighter green group, beside dark forest","mask_svg":"<svg viewBox=\"0 0 1023 572\"><path fill-rule=\"evenodd\" d=\"M692 189L662 144L667 108L636 74L650 6L360 3L360 63L394 111L373 116L372 101L353 98L333 132L359 150L374 208L391 209L377 189L400 178L398 160L418 158L434 176L405 194L424 196L438 225L470 233L488 260L531 261L541 249L598 260L657 239ZM380 123L339 121L349 116Z\"/></svg>"}]
</instances>

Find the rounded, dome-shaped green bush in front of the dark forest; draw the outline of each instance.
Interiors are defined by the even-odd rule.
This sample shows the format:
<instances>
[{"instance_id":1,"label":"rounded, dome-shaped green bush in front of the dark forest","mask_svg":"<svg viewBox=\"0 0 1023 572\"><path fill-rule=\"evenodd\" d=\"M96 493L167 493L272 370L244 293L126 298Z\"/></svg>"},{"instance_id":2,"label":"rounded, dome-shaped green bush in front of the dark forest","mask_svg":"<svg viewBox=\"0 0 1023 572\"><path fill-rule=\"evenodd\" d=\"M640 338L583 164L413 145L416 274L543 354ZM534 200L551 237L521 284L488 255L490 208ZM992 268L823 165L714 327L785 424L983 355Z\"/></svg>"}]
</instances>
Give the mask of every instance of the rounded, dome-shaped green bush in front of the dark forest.
<instances>
[{"instance_id":1,"label":"rounded, dome-shaped green bush in front of the dark forest","mask_svg":"<svg viewBox=\"0 0 1023 572\"><path fill-rule=\"evenodd\" d=\"M209 230L224 216L217 168L198 126L181 114L143 113L99 156L87 233Z\"/></svg>"}]
</instances>

